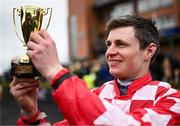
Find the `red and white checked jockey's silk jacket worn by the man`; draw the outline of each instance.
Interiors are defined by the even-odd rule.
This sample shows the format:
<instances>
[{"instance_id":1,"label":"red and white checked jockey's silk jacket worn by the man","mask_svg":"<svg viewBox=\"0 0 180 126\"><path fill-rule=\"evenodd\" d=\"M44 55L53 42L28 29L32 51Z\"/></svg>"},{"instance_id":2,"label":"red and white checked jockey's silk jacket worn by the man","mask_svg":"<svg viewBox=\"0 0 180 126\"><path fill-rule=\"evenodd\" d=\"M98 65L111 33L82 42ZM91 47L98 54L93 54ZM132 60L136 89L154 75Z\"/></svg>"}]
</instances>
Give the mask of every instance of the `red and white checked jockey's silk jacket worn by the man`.
<instances>
[{"instance_id":1,"label":"red and white checked jockey's silk jacket worn by the man","mask_svg":"<svg viewBox=\"0 0 180 126\"><path fill-rule=\"evenodd\" d=\"M152 81L150 73L132 81L123 96L115 80L89 91L83 80L67 73L63 69L51 81L52 96L65 117L54 125L180 124L180 92Z\"/></svg>"}]
</instances>

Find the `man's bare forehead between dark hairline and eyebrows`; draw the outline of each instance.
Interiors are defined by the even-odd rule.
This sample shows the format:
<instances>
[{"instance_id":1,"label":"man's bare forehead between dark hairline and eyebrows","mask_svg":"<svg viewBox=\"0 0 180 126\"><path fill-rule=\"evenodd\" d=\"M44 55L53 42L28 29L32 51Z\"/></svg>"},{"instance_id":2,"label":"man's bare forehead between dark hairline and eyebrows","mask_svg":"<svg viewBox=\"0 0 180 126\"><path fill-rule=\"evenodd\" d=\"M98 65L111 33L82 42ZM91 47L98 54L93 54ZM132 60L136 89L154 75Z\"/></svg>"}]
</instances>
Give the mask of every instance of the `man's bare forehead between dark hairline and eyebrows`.
<instances>
[{"instance_id":1,"label":"man's bare forehead between dark hairline and eyebrows","mask_svg":"<svg viewBox=\"0 0 180 126\"><path fill-rule=\"evenodd\" d=\"M115 28L109 32L107 41L123 40L125 42L138 41L132 26Z\"/></svg>"}]
</instances>

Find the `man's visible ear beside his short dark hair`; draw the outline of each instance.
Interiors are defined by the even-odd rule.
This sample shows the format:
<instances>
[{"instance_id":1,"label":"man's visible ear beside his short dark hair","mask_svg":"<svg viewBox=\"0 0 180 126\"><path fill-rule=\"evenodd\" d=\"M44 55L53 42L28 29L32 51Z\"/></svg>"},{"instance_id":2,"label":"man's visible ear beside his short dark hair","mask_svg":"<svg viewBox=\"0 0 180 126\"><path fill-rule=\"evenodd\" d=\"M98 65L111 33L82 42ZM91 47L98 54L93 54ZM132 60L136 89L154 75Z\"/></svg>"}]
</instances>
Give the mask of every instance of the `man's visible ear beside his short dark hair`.
<instances>
[{"instance_id":1,"label":"man's visible ear beside his short dark hair","mask_svg":"<svg viewBox=\"0 0 180 126\"><path fill-rule=\"evenodd\" d=\"M157 46L154 43L150 43L148 47L145 49L145 54L144 54L144 60L151 60L151 58L155 55L157 50Z\"/></svg>"}]
</instances>

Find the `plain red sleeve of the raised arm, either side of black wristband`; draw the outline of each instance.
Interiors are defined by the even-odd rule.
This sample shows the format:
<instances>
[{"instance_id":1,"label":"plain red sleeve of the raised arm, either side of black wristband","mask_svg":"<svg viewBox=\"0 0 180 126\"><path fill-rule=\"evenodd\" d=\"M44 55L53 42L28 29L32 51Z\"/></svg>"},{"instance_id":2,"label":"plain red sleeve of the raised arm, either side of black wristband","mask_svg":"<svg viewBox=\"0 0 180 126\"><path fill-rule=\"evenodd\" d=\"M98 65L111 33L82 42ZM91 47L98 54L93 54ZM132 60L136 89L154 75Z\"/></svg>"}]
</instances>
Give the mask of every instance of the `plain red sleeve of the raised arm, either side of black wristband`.
<instances>
[{"instance_id":1,"label":"plain red sleeve of the raised arm, either side of black wristband","mask_svg":"<svg viewBox=\"0 0 180 126\"><path fill-rule=\"evenodd\" d=\"M51 81L51 85L67 73L61 70ZM85 82L77 76L65 79L53 92L53 98L70 124L93 124L106 109L101 100L90 92Z\"/></svg>"}]
</instances>

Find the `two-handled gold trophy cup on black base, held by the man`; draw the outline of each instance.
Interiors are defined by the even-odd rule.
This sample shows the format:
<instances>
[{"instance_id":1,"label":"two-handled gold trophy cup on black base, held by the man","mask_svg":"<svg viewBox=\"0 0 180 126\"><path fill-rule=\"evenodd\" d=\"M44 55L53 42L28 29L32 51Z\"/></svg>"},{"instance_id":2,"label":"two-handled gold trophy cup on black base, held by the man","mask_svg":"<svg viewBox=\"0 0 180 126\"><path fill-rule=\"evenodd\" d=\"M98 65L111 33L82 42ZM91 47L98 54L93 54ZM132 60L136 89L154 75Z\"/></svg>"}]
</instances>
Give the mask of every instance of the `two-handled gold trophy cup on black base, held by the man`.
<instances>
[{"instance_id":1,"label":"two-handled gold trophy cup on black base, held by the man","mask_svg":"<svg viewBox=\"0 0 180 126\"><path fill-rule=\"evenodd\" d=\"M15 32L17 37L23 43L23 46L27 46L31 32L36 32L41 29L43 16L49 14L49 20L47 27L49 26L52 8L42 9L34 6L22 6L20 9L13 8L13 22L15 26ZM20 16L20 26L22 30L23 39L19 36L16 30L16 18L15 14ZM25 54L19 59L14 59L11 62L11 74L16 77L38 77L39 72L33 66L30 57Z\"/></svg>"}]
</instances>

